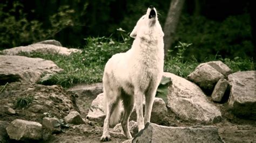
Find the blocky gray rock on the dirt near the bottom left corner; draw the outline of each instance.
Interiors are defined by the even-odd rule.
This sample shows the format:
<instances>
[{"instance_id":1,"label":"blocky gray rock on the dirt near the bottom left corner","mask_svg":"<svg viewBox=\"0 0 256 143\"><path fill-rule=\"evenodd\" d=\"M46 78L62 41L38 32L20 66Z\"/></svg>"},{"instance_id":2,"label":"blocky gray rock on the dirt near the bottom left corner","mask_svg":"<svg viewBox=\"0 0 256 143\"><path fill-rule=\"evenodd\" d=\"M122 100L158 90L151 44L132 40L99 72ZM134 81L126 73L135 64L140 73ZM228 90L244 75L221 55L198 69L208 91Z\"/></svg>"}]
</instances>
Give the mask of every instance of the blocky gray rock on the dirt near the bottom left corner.
<instances>
[{"instance_id":1,"label":"blocky gray rock on the dirt near the bottom left corner","mask_svg":"<svg viewBox=\"0 0 256 143\"><path fill-rule=\"evenodd\" d=\"M16 119L6 127L10 139L39 140L42 139L42 125L35 121Z\"/></svg>"}]
</instances>

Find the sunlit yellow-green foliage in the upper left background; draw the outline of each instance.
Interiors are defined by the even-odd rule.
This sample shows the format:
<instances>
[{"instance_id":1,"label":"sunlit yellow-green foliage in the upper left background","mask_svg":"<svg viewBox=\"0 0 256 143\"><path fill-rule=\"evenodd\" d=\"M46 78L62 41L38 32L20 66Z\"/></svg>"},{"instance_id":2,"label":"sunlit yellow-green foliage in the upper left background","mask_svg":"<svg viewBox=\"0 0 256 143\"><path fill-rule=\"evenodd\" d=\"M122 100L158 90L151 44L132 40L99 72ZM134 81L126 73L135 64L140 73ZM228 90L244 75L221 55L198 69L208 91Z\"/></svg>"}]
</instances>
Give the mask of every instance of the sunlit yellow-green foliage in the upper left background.
<instances>
[{"instance_id":1,"label":"sunlit yellow-green foliage in the upper left background","mask_svg":"<svg viewBox=\"0 0 256 143\"><path fill-rule=\"evenodd\" d=\"M29 45L52 38L59 31L75 23L75 11L68 5L59 6L56 13L49 16L48 22L28 18L28 13L24 12L24 5L19 1L14 1L11 8L8 6L8 2L0 3L1 48ZM30 12L33 13L35 10Z\"/></svg>"}]
</instances>

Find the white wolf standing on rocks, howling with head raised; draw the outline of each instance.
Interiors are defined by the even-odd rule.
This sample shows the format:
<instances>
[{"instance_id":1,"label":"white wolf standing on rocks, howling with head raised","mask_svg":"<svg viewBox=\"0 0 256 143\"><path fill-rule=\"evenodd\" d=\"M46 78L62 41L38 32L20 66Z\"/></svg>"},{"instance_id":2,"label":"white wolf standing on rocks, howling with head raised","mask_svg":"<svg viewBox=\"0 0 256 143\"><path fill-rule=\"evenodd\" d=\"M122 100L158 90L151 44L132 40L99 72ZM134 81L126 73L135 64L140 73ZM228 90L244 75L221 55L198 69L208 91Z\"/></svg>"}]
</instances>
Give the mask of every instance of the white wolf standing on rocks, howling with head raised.
<instances>
[{"instance_id":1,"label":"white wolf standing on rocks, howling with head raised","mask_svg":"<svg viewBox=\"0 0 256 143\"><path fill-rule=\"evenodd\" d=\"M119 121L120 109L124 106L121 121L124 134L132 138L128 122L135 102L139 131L150 121L153 98L163 75L164 33L158 22L157 10L150 6L130 36L134 38L132 48L119 53L107 61L104 75L105 113L102 141L109 141L109 125ZM145 95L145 118L143 96Z\"/></svg>"}]
</instances>

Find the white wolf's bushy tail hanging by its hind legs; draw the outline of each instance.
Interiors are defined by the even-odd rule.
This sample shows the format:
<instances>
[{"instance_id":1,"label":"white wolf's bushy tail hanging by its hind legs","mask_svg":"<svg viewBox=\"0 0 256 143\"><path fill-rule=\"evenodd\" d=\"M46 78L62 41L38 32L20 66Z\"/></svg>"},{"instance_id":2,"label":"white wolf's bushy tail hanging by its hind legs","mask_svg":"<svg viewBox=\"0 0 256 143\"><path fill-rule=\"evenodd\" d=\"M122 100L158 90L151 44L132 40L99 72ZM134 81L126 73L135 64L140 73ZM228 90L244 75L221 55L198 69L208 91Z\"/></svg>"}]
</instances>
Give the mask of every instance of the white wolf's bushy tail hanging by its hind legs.
<instances>
[{"instance_id":1,"label":"white wolf's bushy tail hanging by its hind legs","mask_svg":"<svg viewBox=\"0 0 256 143\"><path fill-rule=\"evenodd\" d=\"M107 97L104 94L104 112L106 113L107 109ZM122 101L120 99L117 99L116 106L113 109L113 112L110 116L110 126L116 125L120 121L120 116L122 113Z\"/></svg>"}]
</instances>

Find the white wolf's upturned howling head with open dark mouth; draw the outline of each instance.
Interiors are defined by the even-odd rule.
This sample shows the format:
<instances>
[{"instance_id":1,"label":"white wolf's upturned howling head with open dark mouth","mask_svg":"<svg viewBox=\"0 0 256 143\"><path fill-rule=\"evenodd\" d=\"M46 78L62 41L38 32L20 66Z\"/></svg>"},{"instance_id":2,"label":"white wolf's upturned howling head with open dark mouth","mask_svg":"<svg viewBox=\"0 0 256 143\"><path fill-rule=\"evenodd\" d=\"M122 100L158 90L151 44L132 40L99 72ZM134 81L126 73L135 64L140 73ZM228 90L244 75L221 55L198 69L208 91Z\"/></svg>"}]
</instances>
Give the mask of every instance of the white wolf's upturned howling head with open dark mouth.
<instances>
[{"instance_id":1,"label":"white wolf's upturned howling head with open dark mouth","mask_svg":"<svg viewBox=\"0 0 256 143\"><path fill-rule=\"evenodd\" d=\"M154 6L149 6L146 15L142 16L136 26L133 28L130 37L145 37L149 34L157 34L154 36L164 37L164 32L158 22L157 10Z\"/></svg>"}]
</instances>

